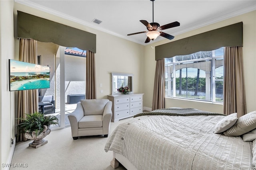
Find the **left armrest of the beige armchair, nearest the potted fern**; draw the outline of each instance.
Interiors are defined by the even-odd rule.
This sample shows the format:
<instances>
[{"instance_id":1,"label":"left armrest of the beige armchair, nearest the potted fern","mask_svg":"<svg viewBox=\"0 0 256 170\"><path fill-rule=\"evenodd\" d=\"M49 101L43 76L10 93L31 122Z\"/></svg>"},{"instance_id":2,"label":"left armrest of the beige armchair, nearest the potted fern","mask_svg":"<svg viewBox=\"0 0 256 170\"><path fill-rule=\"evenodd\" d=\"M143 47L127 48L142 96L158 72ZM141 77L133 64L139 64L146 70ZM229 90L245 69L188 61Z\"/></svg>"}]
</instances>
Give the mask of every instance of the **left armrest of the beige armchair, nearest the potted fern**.
<instances>
[{"instance_id":1,"label":"left armrest of the beige armchair, nearest the potted fern","mask_svg":"<svg viewBox=\"0 0 256 170\"><path fill-rule=\"evenodd\" d=\"M78 102L76 109L68 115L71 126L72 137L78 137L78 122L84 117L84 109L81 102Z\"/></svg>"}]
</instances>

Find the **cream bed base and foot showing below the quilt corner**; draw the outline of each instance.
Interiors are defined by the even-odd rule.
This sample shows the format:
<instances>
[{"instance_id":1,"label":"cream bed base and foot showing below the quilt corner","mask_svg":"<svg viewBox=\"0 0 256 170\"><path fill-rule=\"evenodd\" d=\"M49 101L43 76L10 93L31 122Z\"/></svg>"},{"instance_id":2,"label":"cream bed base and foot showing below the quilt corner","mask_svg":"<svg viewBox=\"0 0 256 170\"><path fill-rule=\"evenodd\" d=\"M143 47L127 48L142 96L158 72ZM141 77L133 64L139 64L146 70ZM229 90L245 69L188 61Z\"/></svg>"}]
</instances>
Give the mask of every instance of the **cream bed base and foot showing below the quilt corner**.
<instances>
[{"instance_id":1,"label":"cream bed base and foot showing below the quilt corner","mask_svg":"<svg viewBox=\"0 0 256 170\"><path fill-rule=\"evenodd\" d=\"M111 160L110 166L116 169L119 166L119 163L127 170L137 170L137 168L126 157L113 151L113 160Z\"/></svg>"}]
</instances>

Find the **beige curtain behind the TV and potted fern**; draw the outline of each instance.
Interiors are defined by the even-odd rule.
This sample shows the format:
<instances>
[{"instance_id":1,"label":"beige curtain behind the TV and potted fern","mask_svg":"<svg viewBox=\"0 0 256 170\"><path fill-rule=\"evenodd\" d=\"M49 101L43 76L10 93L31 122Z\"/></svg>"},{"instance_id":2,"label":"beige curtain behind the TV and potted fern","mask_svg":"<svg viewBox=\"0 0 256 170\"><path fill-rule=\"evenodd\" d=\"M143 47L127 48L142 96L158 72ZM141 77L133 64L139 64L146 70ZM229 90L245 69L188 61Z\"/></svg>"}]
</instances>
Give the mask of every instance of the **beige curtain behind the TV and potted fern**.
<instances>
[{"instance_id":1,"label":"beige curtain behind the TV and potted fern","mask_svg":"<svg viewBox=\"0 0 256 170\"><path fill-rule=\"evenodd\" d=\"M34 39L20 39L19 61L37 64L36 41ZM18 91L18 118L26 117L26 114L38 111L38 90ZM20 121L18 120L18 124ZM24 135L20 135L17 141L26 141Z\"/></svg>"}]
</instances>

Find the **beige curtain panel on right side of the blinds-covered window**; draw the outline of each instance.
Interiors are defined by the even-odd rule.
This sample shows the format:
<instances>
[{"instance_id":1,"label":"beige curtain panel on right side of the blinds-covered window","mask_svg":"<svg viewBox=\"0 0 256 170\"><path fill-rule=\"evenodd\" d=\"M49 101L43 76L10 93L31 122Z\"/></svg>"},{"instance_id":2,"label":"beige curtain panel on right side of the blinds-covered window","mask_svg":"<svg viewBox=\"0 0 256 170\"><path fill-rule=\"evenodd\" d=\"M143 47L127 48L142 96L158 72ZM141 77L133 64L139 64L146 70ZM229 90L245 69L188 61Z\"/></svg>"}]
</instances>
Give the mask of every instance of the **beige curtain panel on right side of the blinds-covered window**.
<instances>
[{"instance_id":1,"label":"beige curtain panel on right side of the blinds-covered window","mask_svg":"<svg viewBox=\"0 0 256 170\"><path fill-rule=\"evenodd\" d=\"M223 113L246 114L242 46L224 48Z\"/></svg>"}]
</instances>

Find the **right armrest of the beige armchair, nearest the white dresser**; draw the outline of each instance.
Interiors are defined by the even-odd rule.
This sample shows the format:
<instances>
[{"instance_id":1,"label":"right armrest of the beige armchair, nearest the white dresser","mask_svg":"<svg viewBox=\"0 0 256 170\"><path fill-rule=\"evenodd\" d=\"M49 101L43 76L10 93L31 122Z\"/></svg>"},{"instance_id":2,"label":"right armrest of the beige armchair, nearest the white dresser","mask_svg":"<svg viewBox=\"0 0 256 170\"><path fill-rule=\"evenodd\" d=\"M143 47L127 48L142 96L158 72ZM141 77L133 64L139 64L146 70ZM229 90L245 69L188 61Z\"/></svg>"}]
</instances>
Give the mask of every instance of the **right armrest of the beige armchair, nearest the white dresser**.
<instances>
[{"instance_id":1,"label":"right armrest of the beige armchair, nearest the white dresser","mask_svg":"<svg viewBox=\"0 0 256 170\"><path fill-rule=\"evenodd\" d=\"M104 109L103 115L102 115L102 119L103 119L103 135L108 135L109 129L110 129L110 121L111 121L111 117L112 117L112 102L109 101Z\"/></svg>"}]
</instances>

